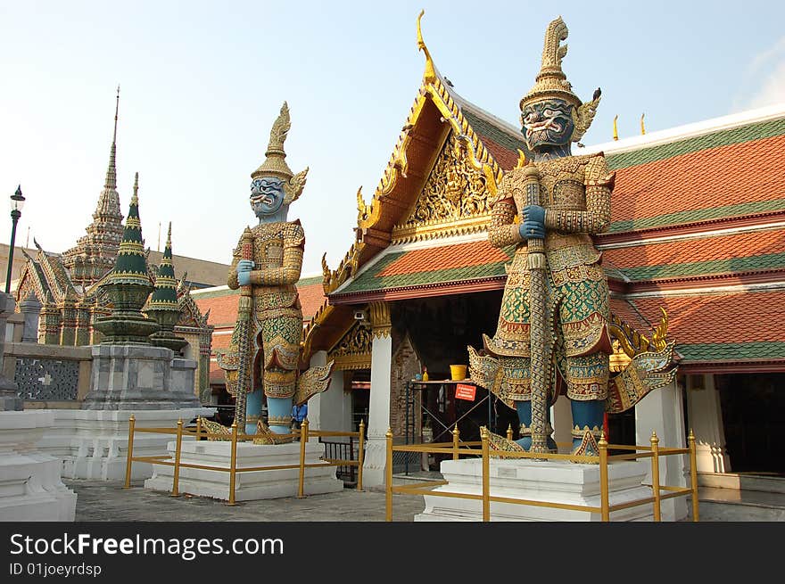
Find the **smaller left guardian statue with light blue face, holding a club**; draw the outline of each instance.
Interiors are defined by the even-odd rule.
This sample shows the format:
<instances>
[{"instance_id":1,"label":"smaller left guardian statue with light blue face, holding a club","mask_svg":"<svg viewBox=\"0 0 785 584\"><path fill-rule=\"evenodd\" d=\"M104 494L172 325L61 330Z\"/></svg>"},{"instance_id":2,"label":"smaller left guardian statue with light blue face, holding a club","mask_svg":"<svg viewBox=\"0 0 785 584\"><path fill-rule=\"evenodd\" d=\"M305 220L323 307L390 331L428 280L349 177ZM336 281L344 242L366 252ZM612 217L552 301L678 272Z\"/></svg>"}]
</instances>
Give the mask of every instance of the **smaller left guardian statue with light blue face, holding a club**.
<instances>
[{"instance_id":1,"label":"smaller left guardian statue with light blue face, holding a club","mask_svg":"<svg viewBox=\"0 0 785 584\"><path fill-rule=\"evenodd\" d=\"M330 383L333 362L300 373L302 308L296 282L305 234L300 220L287 221L308 169L293 174L284 142L291 127L286 103L270 130L266 160L252 172L251 208L259 224L246 227L232 259L227 284L240 289L237 323L228 350L218 355L227 391L235 396L237 426L259 434L260 443L285 441L293 405L302 405ZM261 419L262 393L268 423Z\"/></svg>"}]
</instances>

